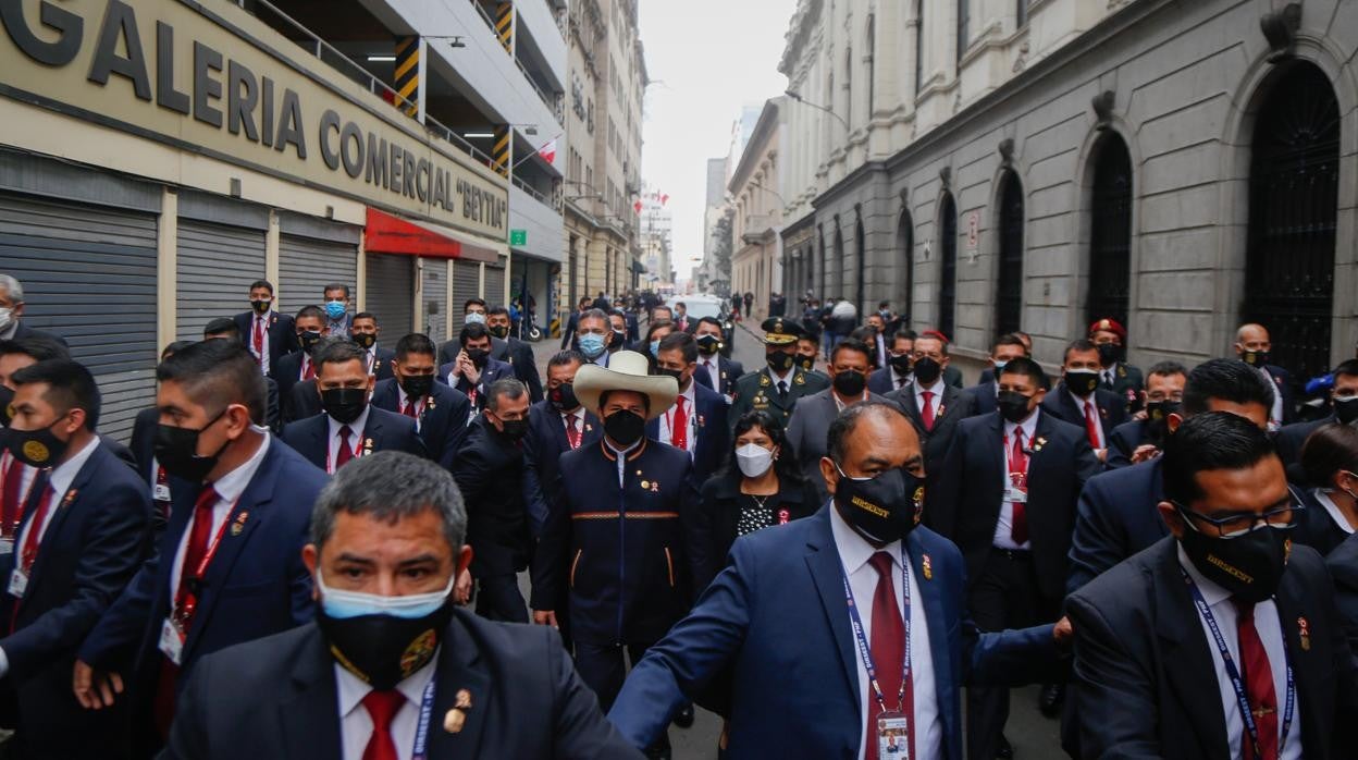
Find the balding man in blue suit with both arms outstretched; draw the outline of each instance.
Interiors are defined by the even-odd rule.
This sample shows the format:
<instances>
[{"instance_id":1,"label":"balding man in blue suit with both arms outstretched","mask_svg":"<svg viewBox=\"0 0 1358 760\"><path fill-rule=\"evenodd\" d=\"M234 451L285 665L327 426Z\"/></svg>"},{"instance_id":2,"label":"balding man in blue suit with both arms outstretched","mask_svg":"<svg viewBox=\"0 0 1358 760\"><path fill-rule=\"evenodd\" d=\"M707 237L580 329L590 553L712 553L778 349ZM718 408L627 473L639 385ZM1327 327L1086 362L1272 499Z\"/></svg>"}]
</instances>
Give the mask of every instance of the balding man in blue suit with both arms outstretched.
<instances>
[{"instance_id":1,"label":"balding man in blue suit with both arms outstretched","mask_svg":"<svg viewBox=\"0 0 1358 760\"><path fill-rule=\"evenodd\" d=\"M909 756L960 759L963 685L1055 666L1051 625L982 634L967 619L961 555L917 525L923 457L899 408L850 407L828 453L834 503L736 538L698 606L633 669L608 718L634 745L728 672L736 688L712 699L729 719L727 757L876 757L885 737L866 651L885 708L904 714L888 727L903 729Z\"/></svg>"}]
</instances>

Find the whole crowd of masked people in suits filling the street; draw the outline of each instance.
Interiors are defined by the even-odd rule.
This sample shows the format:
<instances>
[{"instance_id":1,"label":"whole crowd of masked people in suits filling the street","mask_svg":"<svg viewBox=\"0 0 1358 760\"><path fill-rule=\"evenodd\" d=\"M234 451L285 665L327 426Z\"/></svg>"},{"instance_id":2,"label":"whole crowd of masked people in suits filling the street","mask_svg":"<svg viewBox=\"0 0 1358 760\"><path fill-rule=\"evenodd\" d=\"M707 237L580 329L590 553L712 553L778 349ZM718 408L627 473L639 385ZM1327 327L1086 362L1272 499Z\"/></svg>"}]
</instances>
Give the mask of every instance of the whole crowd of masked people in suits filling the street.
<instances>
[{"instance_id":1,"label":"whole crowd of masked people in suits filling the street","mask_svg":"<svg viewBox=\"0 0 1358 760\"><path fill-rule=\"evenodd\" d=\"M1005 334L964 387L885 303L746 371L600 294L542 374L500 305L388 348L273 290L124 446L0 275L7 756L668 757L697 704L724 757L990 760L1023 684L1073 757L1358 741L1358 359L1297 421L1262 325L1143 373L1099 319L1057 378Z\"/></svg>"}]
</instances>

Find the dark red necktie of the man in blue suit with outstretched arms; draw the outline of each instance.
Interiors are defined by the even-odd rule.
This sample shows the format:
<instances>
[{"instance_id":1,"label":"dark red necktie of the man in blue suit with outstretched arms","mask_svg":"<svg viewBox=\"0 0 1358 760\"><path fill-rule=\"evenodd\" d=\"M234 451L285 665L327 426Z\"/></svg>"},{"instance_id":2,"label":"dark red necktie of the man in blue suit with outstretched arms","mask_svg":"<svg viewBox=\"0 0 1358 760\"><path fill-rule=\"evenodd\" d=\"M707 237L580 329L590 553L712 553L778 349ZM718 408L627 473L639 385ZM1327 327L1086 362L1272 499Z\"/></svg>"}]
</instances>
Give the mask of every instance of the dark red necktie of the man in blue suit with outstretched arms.
<instances>
[{"instance_id":1,"label":"dark red necktie of the man in blue suit with outstretched arms","mask_svg":"<svg viewBox=\"0 0 1358 760\"><path fill-rule=\"evenodd\" d=\"M887 703L887 710L894 710L896 695L900 693L900 672L904 666L906 659L906 625L904 619L900 615L900 606L896 604L896 585L894 576L896 574L896 566L891 562L891 555L887 552L877 552L868 559L868 564L877 571L877 590L872 594L872 663L877 669L877 684L881 687L881 696ZM877 704L877 696L872 691L872 685L866 684L868 689L868 746L864 752L864 760L877 760L877 715L881 714L881 706ZM910 757L915 756L915 689L914 684L906 684L906 695L900 702L900 712L909 718L910 731Z\"/></svg>"}]
</instances>

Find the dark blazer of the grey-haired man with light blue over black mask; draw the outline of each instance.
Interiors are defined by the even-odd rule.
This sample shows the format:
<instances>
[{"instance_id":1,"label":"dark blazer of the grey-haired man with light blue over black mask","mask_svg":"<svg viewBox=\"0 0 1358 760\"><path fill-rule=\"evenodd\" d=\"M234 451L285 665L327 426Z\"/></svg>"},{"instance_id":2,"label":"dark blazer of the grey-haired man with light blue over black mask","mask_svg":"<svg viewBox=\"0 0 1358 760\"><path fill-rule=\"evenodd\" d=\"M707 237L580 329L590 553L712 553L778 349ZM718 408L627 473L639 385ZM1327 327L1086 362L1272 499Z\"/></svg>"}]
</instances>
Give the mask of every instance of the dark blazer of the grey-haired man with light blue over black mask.
<instances>
[{"instance_id":1,"label":"dark blazer of the grey-haired man with light blue over black mask","mask_svg":"<svg viewBox=\"0 0 1358 760\"><path fill-rule=\"evenodd\" d=\"M429 757L640 759L599 711L554 631L456 609L435 666ZM443 715L466 689L458 733ZM334 658L315 624L204 658L164 760L342 756Z\"/></svg>"}]
</instances>

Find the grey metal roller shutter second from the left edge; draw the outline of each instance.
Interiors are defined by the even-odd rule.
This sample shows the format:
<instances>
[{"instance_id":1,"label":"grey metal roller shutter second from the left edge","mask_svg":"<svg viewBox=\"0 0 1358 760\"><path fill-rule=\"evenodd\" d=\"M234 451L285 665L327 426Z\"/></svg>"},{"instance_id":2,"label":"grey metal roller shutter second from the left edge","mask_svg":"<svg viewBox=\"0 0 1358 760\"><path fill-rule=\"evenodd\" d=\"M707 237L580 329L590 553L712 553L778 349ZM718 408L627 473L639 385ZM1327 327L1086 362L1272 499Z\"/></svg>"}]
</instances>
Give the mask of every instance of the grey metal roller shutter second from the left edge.
<instances>
[{"instance_id":1,"label":"grey metal roller shutter second from the left edge","mask_svg":"<svg viewBox=\"0 0 1358 760\"><path fill-rule=\"evenodd\" d=\"M261 230L179 218L179 340L198 340L212 319L249 309L250 283L265 273L263 249Z\"/></svg>"}]
</instances>

